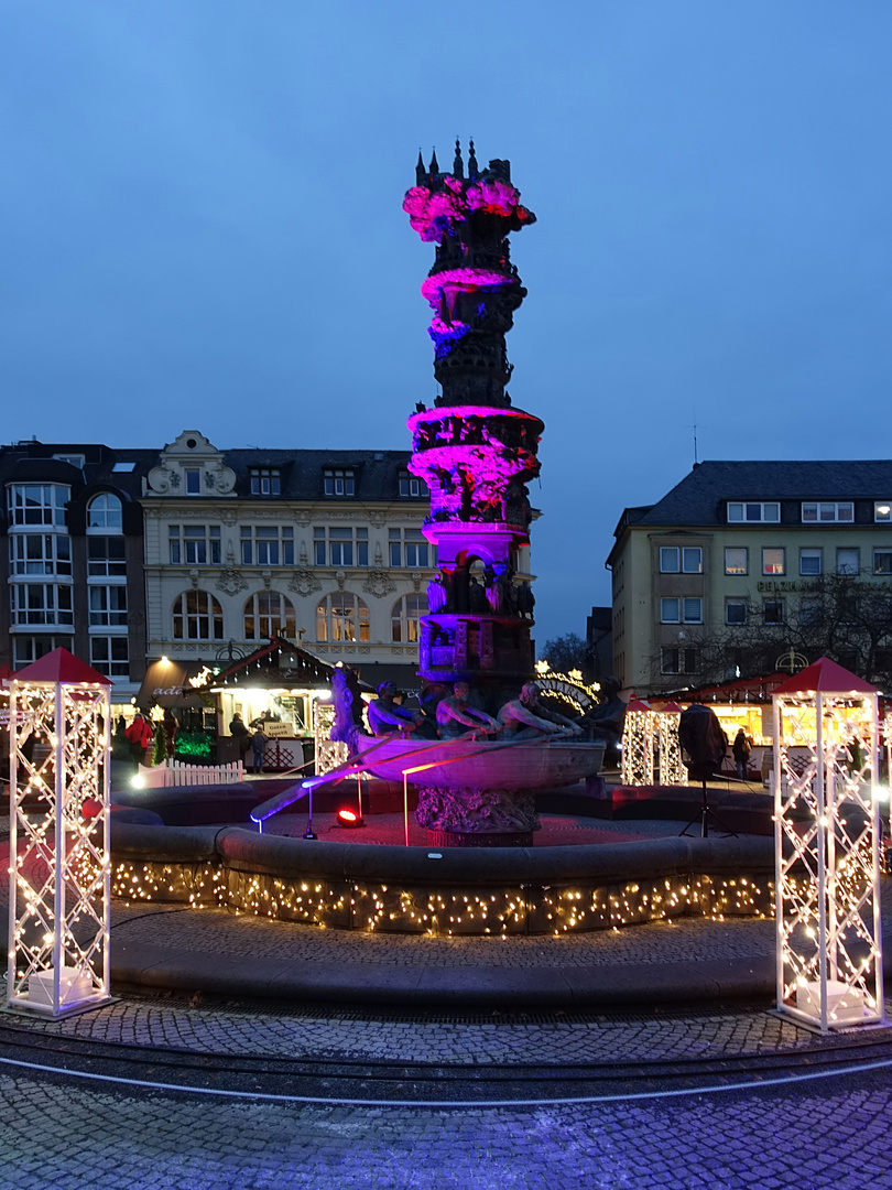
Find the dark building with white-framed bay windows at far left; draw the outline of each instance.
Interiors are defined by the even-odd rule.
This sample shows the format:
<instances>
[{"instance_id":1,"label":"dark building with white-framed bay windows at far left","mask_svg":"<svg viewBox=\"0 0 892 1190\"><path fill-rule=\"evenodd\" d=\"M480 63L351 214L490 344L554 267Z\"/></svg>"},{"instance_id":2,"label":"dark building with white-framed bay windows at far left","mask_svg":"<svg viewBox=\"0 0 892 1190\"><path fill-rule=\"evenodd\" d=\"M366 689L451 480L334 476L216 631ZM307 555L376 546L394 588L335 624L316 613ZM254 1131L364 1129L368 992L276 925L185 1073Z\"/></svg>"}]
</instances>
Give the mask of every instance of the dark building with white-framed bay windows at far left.
<instances>
[{"instance_id":1,"label":"dark building with white-framed bay windows at far left","mask_svg":"<svg viewBox=\"0 0 892 1190\"><path fill-rule=\"evenodd\" d=\"M0 662L62 645L130 702L145 672L142 475L157 451L96 443L0 447Z\"/></svg>"}]
</instances>

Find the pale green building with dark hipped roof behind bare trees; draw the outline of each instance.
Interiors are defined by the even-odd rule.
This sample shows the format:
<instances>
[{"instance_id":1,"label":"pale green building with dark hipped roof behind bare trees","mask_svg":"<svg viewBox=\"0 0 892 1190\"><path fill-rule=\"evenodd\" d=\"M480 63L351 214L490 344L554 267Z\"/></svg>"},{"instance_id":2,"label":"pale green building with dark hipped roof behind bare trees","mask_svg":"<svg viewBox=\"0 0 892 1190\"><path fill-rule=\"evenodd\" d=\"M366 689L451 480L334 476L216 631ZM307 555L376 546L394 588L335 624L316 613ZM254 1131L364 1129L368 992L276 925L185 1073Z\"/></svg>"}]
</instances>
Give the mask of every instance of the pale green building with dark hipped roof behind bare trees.
<instances>
[{"instance_id":1,"label":"pale green building with dark hipped roof behind bare trees","mask_svg":"<svg viewBox=\"0 0 892 1190\"><path fill-rule=\"evenodd\" d=\"M798 666L817 649L871 679L892 671L892 462L701 463L624 509L615 538L627 691Z\"/></svg>"}]
</instances>

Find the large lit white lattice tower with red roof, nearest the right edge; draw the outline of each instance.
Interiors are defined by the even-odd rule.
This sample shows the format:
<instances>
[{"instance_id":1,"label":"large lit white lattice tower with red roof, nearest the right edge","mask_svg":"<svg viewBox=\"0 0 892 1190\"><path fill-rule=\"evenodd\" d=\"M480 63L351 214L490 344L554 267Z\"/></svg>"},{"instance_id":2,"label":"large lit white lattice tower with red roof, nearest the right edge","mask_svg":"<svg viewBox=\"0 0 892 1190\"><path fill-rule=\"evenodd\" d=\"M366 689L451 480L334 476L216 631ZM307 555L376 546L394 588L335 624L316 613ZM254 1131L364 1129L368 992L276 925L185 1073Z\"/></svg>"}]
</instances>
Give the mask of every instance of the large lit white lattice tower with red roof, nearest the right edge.
<instances>
[{"instance_id":1,"label":"large lit white lattice tower with red roof, nearest the right edge","mask_svg":"<svg viewBox=\"0 0 892 1190\"><path fill-rule=\"evenodd\" d=\"M778 1009L881 1021L877 691L824 657L772 699Z\"/></svg>"}]
</instances>

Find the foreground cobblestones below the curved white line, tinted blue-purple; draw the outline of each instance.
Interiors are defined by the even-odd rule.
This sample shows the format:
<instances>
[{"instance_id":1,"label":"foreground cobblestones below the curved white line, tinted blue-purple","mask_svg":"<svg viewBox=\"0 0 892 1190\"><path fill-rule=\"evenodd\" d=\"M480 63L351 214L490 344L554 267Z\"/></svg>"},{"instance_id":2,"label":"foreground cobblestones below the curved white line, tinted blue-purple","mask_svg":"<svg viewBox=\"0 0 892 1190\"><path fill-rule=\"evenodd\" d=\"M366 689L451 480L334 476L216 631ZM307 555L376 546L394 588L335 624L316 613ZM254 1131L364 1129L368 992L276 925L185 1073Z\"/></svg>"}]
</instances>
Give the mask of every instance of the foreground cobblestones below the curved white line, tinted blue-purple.
<instances>
[{"instance_id":1,"label":"foreground cobblestones below the curved white line, tinted blue-purple","mask_svg":"<svg viewBox=\"0 0 892 1190\"><path fill-rule=\"evenodd\" d=\"M677 1098L448 1110L0 1073L4 1190L888 1190L887 1071Z\"/></svg>"}]
</instances>

